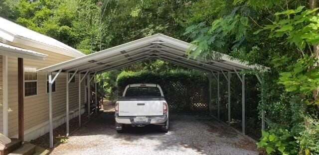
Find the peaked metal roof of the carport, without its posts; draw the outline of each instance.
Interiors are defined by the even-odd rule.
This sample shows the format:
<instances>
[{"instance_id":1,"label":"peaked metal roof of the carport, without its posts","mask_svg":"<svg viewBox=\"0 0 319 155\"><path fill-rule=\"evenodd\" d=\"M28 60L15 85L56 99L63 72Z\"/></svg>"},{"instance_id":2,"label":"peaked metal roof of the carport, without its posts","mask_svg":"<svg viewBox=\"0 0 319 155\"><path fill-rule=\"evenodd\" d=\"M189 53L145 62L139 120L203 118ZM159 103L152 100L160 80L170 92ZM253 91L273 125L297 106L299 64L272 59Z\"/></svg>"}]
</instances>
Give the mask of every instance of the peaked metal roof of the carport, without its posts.
<instances>
[{"instance_id":1,"label":"peaked metal roof of the carport, without its posts","mask_svg":"<svg viewBox=\"0 0 319 155\"><path fill-rule=\"evenodd\" d=\"M123 68L149 59L161 59L182 67L203 72L233 72L247 69L264 70L260 65L232 60L226 54L220 53L218 60L197 61L188 59L185 52L196 48L190 43L163 35L155 34L149 37L131 41L100 52L65 61L38 71L40 72L76 72L102 73Z\"/></svg>"}]
</instances>

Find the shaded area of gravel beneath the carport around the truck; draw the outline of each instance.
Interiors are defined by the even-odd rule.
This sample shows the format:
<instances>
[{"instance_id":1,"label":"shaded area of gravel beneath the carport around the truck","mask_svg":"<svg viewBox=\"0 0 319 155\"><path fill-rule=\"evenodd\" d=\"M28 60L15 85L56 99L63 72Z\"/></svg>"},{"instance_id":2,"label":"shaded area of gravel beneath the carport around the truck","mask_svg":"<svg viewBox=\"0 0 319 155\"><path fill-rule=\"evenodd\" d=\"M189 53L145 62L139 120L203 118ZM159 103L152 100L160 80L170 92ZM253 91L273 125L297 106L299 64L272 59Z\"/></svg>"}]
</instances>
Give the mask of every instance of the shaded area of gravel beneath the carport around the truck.
<instances>
[{"instance_id":1,"label":"shaded area of gravel beneath the carport around the truck","mask_svg":"<svg viewBox=\"0 0 319 155\"><path fill-rule=\"evenodd\" d=\"M104 112L71 136L98 135L101 137L97 140L100 143L103 143L105 139L112 141L112 145L118 148L121 148L121 145L136 146L160 152L193 152L209 155L218 152L218 150L223 151L225 148L233 151L237 151L237 148L243 152L247 150L240 145L244 139L238 137L235 131L207 116L170 114L169 117L170 129L168 133L163 133L160 126L149 125L146 127L127 127L124 133L118 134L114 125L114 112ZM248 144L249 142L246 145ZM94 145L92 144L92 146ZM254 148L248 150L256 151Z\"/></svg>"}]
</instances>

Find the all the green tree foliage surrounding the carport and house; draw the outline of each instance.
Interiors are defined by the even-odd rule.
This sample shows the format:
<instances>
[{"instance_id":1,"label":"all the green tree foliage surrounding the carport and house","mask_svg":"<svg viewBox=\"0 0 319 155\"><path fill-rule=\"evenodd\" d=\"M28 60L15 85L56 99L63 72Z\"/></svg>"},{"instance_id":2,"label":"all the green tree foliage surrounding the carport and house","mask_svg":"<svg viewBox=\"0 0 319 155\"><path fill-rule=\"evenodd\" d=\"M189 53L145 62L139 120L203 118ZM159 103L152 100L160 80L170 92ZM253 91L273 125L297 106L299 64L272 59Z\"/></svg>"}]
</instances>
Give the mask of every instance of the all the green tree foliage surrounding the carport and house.
<instances>
[{"instance_id":1,"label":"all the green tree foliage surrounding the carport and house","mask_svg":"<svg viewBox=\"0 0 319 155\"><path fill-rule=\"evenodd\" d=\"M220 52L270 67L258 86L265 100L258 110L266 111L268 125L261 139L265 143L259 146L274 145L270 154L285 154L290 148L286 144L296 142L293 150L307 155L319 152L319 15L313 3L316 0L1 0L0 15L86 54L163 33L196 45L186 53L189 58L218 61ZM107 81L101 87L111 94L122 71L175 69L163 61L145 61L99 80Z\"/></svg>"}]
</instances>

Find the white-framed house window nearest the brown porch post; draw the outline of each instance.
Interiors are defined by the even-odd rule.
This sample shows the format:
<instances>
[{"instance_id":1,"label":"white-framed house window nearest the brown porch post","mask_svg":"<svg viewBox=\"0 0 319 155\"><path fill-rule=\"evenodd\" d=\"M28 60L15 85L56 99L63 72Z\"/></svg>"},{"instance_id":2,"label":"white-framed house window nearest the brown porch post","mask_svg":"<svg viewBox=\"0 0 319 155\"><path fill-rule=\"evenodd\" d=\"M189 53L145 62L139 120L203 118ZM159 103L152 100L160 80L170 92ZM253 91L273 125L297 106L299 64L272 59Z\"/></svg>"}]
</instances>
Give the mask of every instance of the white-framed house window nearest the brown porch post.
<instances>
[{"instance_id":1,"label":"white-framed house window nearest the brown porch post","mask_svg":"<svg viewBox=\"0 0 319 155\"><path fill-rule=\"evenodd\" d=\"M24 96L37 94L36 68L24 67Z\"/></svg>"}]
</instances>

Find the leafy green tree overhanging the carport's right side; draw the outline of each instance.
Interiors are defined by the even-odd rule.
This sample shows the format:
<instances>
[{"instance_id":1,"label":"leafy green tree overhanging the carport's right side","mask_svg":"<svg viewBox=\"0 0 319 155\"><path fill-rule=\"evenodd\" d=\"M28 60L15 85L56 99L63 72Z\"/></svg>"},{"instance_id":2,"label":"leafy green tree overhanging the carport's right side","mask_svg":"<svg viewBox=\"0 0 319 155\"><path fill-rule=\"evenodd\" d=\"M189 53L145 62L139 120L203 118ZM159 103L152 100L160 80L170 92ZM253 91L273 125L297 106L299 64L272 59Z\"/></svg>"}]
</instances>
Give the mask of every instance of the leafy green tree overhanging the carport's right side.
<instances>
[{"instance_id":1,"label":"leafy green tree overhanging the carport's right side","mask_svg":"<svg viewBox=\"0 0 319 155\"><path fill-rule=\"evenodd\" d=\"M188 52L189 57L218 60L218 51L233 59L271 67L264 73L261 87L266 92L266 104L259 106L266 111L270 132L263 135L259 146L269 154L291 153L288 145L306 139L306 135L314 137L309 130L310 118L317 118L318 122L318 48L313 48L319 44L315 13L318 8L310 8L308 2L234 0L232 11L223 12L221 18L191 25L185 31L198 46ZM280 130L288 130L290 137L296 138L285 139L287 134L279 133ZM270 140L267 135L275 139ZM282 145L286 147L280 148ZM299 142L296 149L301 154L318 152L307 145Z\"/></svg>"}]
</instances>

